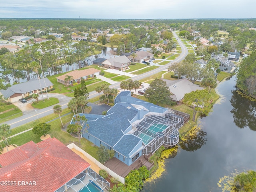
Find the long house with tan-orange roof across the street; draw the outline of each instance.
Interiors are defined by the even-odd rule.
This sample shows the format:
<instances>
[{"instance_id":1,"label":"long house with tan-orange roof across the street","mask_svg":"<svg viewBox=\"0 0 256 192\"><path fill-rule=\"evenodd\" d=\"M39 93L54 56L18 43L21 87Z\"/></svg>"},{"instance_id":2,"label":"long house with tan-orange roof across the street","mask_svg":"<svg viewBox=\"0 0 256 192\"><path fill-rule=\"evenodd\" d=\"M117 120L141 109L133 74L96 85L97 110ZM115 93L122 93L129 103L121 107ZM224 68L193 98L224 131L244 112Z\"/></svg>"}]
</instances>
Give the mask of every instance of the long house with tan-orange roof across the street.
<instances>
[{"instance_id":1,"label":"long house with tan-orange roof across the street","mask_svg":"<svg viewBox=\"0 0 256 192\"><path fill-rule=\"evenodd\" d=\"M82 78L84 80L87 80L88 78L94 78L94 76L98 75L100 73L100 70L89 68L84 70L74 70L71 72L68 72L64 75L56 77L57 82L62 83L64 85L71 85L73 83L80 83ZM69 82L65 81L66 76L71 76L74 80L71 80Z\"/></svg>"}]
</instances>

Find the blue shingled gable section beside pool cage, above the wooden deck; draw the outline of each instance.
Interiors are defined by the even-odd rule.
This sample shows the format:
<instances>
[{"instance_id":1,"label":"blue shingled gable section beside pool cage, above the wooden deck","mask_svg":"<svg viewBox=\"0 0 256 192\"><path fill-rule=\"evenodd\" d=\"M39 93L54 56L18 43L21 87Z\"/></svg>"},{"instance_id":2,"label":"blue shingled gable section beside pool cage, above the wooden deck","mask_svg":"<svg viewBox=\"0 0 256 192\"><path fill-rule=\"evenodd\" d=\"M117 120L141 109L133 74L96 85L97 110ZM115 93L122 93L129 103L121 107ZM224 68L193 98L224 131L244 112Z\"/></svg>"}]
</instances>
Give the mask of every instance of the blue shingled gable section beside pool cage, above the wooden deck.
<instances>
[{"instance_id":1,"label":"blue shingled gable section beside pool cage, above the wooden deck","mask_svg":"<svg viewBox=\"0 0 256 192\"><path fill-rule=\"evenodd\" d=\"M128 157L141 140L141 138L138 138L133 134L127 134L120 139L113 149L125 157Z\"/></svg>"}]
</instances>

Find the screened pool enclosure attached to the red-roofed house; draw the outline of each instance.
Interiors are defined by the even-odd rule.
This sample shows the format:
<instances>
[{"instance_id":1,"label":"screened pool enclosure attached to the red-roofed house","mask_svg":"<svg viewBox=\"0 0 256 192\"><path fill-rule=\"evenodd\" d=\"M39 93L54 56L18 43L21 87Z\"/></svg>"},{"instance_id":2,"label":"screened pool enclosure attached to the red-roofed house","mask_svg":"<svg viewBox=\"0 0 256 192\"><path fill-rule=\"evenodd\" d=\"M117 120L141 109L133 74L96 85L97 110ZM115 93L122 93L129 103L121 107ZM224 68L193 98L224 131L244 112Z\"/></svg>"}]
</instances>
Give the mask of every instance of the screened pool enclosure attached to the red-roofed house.
<instances>
[{"instance_id":1,"label":"screened pool enclosure attached to the red-roofed house","mask_svg":"<svg viewBox=\"0 0 256 192\"><path fill-rule=\"evenodd\" d=\"M89 186L96 186L99 192L110 190L108 181L91 168L87 168L62 187L58 188L55 192L79 192L84 188L87 188L87 191L91 191Z\"/></svg>"}]
</instances>

